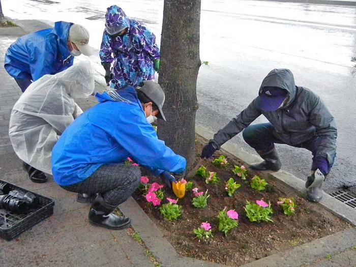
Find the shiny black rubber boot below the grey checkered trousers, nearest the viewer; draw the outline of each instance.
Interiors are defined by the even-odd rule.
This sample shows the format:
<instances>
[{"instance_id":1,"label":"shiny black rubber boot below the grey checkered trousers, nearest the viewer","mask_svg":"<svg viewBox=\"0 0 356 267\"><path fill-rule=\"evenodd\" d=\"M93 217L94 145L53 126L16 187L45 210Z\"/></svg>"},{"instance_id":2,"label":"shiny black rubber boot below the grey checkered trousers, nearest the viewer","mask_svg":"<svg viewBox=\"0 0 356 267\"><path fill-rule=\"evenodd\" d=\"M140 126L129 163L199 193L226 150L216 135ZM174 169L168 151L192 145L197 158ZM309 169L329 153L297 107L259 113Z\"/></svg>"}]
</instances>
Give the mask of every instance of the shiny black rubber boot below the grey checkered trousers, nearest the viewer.
<instances>
[{"instance_id":1,"label":"shiny black rubber boot below the grey checkered trousers, nearest the viewer","mask_svg":"<svg viewBox=\"0 0 356 267\"><path fill-rule=\"evenodd\" d=\"M91 224L112 230L120 230L130 227L131 220L112 213L116 206L110 205L98 195L89 211L88 219Z\"/></svg>"}]
</instances>

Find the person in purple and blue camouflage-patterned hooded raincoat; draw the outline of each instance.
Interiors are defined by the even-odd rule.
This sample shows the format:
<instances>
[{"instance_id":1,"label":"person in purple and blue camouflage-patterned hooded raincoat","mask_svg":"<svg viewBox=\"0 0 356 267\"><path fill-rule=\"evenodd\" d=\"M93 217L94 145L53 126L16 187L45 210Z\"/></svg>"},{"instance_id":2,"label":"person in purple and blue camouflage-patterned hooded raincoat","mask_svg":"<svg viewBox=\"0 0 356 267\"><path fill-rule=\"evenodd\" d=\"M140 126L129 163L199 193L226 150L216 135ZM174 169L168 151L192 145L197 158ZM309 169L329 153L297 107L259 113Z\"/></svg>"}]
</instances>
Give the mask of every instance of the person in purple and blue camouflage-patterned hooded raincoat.
<instances>
[{"instance_id":1,"label":"person in purple and blue camouflage-patterned hooded raincoat","mask_svg":"<svg viewBox=\"0 0 356 267\"><path fill-rule=\"evenodd\" d=\"M141 22L129 19L118 6L105 14L105 30L100 48L107 85L119 90L154 80L159 71L160 53L156 36ZM112 65L112 68L111 68Z\"/></svg>"}]
</instances>

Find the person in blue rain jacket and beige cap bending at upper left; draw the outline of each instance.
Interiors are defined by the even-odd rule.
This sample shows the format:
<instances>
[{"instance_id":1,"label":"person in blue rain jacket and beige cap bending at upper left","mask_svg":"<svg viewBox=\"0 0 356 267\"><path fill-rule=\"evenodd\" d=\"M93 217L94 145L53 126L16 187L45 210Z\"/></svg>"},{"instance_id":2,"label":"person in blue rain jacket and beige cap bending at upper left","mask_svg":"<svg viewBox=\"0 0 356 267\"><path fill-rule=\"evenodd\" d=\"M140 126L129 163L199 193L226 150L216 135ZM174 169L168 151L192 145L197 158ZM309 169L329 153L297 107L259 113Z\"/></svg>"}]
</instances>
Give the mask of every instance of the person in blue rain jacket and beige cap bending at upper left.
<instances>
[{"instance_id":1,"label":"person in blue rain jacket and beige cap bending at upper left","mask_svg":"<svg viewBox=\"0 0 356 267\"><path fill-rule=\"evenodd\" d=\"M45 74L56 74L73 65L74 56L91 55L89 32L81 25L57 21L54 28L17 39L5 55L5 69L24 92Z\"/></svg>"}]
</instances>

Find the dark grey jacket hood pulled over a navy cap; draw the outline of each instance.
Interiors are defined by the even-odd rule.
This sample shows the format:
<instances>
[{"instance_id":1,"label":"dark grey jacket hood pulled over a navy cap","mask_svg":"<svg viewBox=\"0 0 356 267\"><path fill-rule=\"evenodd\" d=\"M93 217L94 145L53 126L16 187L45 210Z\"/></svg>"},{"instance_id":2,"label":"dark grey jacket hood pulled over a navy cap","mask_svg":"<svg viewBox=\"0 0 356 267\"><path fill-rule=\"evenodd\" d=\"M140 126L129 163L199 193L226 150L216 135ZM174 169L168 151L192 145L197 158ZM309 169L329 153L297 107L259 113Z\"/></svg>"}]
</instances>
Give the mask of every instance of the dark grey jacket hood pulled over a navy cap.
<instances>
[{"instance_id":1,"label":"dark grey jacket hood pulled over a navy cap","mask_svg":"<svg viewBox=\"0 0 356 267\"><path fill-rule=\"evenodd\" d=\"M264 87L278 87L286 90L289 95L289 100L284 107L288 106L295 99L296 89L294 77L292 72L288 69L274 69L270 71L261 83L258 92L259 96L262 94Z\"/></svg>"}]
</instances>

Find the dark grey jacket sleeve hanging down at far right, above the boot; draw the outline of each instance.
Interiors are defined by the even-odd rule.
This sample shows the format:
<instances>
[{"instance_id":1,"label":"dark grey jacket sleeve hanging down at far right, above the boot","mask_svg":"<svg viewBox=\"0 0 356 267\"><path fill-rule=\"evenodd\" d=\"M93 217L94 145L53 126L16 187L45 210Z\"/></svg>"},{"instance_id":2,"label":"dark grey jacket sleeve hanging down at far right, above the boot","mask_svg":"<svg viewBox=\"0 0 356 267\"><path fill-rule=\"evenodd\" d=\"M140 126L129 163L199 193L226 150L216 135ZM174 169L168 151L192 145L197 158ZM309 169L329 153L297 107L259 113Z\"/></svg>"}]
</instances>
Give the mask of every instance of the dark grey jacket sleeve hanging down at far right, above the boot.
<instances>
[{"instance_id":1,"label":"dark grey jacket sleeve hanging down at far right, above the boot","mask_svg":"<svg viewBox=\"0 0 356 267\"><path fill-rule=\"evenodd\" d=\"M309 121L316 128L316 136L322 138L315 157L327 159L332 166L337 138L334 117L318 97L311 103L310 110Z\"/></svg>"}]
</instances>

